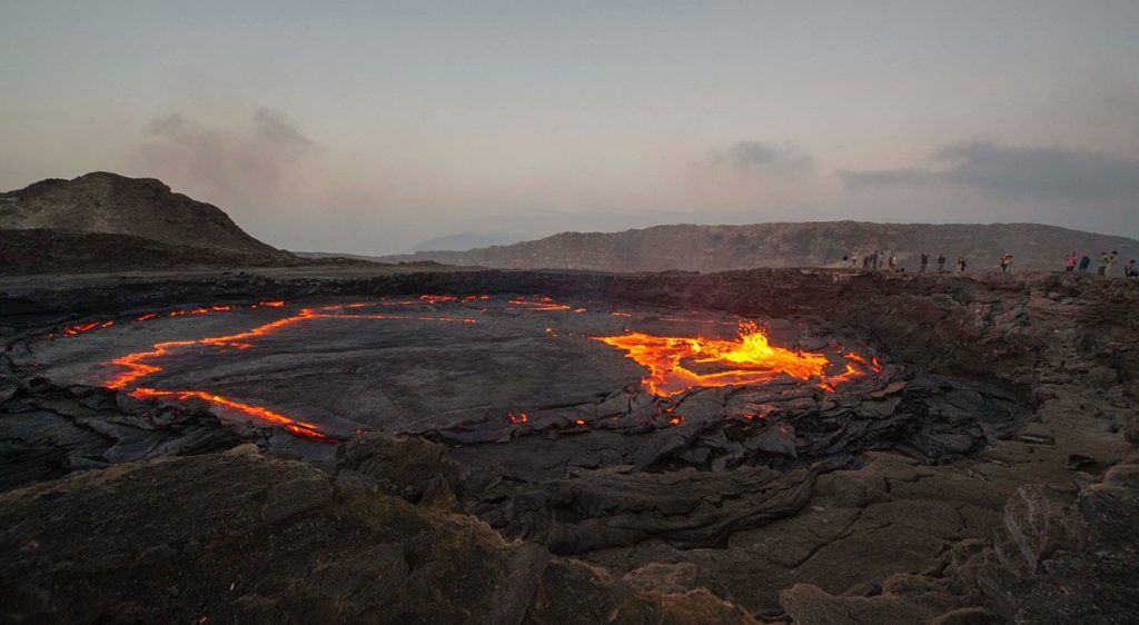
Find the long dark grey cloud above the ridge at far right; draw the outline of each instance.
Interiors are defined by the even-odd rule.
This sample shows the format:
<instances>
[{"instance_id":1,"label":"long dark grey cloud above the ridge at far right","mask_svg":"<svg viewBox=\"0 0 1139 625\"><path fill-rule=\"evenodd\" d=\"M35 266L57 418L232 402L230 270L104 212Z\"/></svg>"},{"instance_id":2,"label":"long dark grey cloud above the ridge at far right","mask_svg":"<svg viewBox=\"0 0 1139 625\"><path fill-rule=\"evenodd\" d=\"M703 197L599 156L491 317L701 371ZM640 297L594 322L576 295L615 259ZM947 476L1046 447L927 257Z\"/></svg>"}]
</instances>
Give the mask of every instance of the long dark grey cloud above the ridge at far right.
<instances>
[{"instance_id":1,"label":"long dark grey cloud above the ridge at far right","mask_svg":"<svg viewBox=\"0 0 1139 625\"><path fill-rule=\"evenodd\" d=\"M836 173L852 190L951 184L1003 199L1139 198L1139 159L1059 146L953 143L937 149L919 166Z\"/></svg>"}]
</instances>

